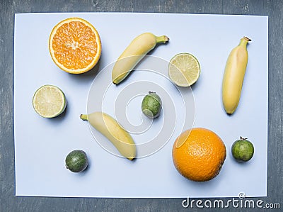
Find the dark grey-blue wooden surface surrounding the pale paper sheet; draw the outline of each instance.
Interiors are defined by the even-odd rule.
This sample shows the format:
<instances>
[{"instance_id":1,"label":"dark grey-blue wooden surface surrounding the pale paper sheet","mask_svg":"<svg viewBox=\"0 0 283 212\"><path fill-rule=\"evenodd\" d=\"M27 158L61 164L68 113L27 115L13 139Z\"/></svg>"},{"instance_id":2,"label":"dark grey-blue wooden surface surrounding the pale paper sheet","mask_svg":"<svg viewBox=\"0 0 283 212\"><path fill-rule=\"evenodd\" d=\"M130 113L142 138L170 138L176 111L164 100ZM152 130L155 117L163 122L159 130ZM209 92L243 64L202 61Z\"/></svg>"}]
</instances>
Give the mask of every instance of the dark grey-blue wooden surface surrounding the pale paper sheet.
<instances>
[{"instance_id":1,"label":"dark grey-blue wooden surface surrounding the pale paper sheet","mask_svg":"<svg viewBox=\"0 0 283 212\"><path fill-rule=\"evenodd\" d=\"M13 144L14 13L27 12L168 12L269 16L268 182L265 203L280 203L282 185L283 1L282 0L1 0L0 1L0 211L197 211L183 199L83 199L15 196ZM42 23L44 24L44 23ZM247 23L248 24L248 23ZM255 179L256 180L256 179ZM165 185L166 186L166 185ZM215 209L219 211L219 209ZM230 207L228 211L240 208ZM212 211L202 208L200 211ZM250 209L241 208L241 211ZM256 209L255 211L258 211ZM267 211L262 209L261 211Z\"/></svg>"}]
</instances>

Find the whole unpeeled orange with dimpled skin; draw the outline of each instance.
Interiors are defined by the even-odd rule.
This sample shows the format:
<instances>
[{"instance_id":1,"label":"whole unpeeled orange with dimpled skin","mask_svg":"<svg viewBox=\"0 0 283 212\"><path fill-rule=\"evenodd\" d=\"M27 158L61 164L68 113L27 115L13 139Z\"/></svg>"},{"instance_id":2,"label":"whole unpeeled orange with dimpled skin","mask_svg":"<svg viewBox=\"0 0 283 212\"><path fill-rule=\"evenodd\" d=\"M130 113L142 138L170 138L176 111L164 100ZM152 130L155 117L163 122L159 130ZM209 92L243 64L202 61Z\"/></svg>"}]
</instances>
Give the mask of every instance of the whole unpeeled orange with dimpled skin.
<instances>
[{"instance_id":1,"label":"whole unpeeled orange with dimpled skin","mask_svg":"<svg viewBox=\"0 0 283 212\"><path fill-rule=\"evenodd\" d=\"M204 182L219 174L226 147L212 130L192 128L175 140L172 156L175 168L183 177Z\"/></svg>"}]
</instances>

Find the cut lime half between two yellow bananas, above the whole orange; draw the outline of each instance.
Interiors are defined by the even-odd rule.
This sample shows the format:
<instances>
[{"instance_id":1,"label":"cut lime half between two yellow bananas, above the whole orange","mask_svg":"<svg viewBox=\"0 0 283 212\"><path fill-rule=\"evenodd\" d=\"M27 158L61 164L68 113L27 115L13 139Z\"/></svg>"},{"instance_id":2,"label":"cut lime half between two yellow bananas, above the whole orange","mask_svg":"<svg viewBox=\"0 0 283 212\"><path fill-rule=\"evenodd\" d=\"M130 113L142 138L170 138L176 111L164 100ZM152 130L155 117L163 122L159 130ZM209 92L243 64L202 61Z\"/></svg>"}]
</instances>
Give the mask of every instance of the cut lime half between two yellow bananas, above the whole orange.
<instances>
[{"instance_id":1,"label":"cut lime half between two yellow bananas, above the whole orange","mask_svg":"<svg viewBox=\"0 0 283 212\"><path fill-rule=\"evenodd\" d=\"M168 65L169 78L180 87L189 87L200 77L200 63L190 53L175 55Z\"/></svg>"}]
</instances>

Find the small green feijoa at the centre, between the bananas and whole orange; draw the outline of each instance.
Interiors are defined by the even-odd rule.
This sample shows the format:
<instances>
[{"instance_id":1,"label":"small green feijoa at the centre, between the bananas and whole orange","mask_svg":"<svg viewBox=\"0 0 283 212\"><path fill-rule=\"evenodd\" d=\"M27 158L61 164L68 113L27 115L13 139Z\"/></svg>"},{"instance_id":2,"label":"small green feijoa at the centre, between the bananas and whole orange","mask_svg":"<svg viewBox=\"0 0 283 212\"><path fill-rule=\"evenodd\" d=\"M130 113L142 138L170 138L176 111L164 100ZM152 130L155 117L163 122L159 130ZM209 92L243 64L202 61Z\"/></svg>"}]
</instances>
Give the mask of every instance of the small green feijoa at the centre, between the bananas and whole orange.
<instances>
[{"instance_id":1,"label":"small green feijoa at the centre, between the bananas and whole orange","mask_svg":"<svg viewBox=\"0 0 283 212\"><path fill-rule=\"evenodd\" d=\"M160 115L161 105L160 97L155 92L149 91L141 102L141 111L149 118L156 118Z\"/></svg>"}]
</instances>

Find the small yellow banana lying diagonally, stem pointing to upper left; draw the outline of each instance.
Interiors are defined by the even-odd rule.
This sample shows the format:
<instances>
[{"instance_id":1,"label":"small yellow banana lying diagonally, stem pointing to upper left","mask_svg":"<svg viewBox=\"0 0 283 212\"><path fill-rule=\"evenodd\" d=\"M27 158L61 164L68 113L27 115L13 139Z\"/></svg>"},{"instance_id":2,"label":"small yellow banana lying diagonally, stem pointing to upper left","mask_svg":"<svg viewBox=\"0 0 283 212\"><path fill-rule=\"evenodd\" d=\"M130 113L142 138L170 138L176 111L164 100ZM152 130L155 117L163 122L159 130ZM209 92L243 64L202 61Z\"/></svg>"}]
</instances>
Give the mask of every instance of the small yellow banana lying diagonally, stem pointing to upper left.
<instances>
[{"instance_id":1,"label":"small yellow banana lying diagonally, stem pointing to upper left","mask_svg":"<svg viewBox=\"0 0 283 212\"><path fill-rule=\"evenodd\" d=\"M132 136L121 128L114 118L103 112L95 112L88 115L81 114L80 118L91 123L93 128L96 128L96 130L108 138L122 156L127 157L129 160L133 160L136 157L137 150Z\"/></svg>"}]
</instances>

